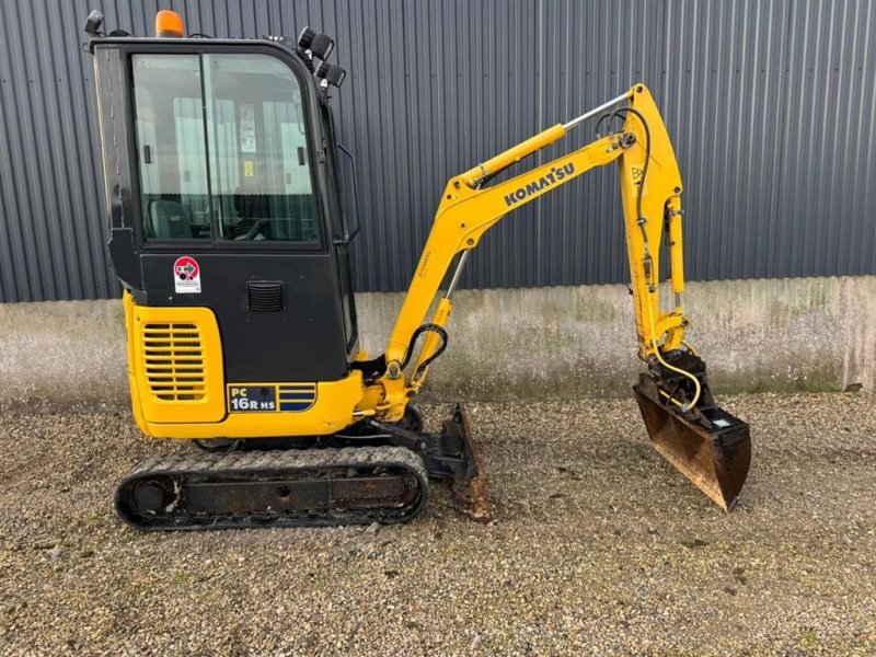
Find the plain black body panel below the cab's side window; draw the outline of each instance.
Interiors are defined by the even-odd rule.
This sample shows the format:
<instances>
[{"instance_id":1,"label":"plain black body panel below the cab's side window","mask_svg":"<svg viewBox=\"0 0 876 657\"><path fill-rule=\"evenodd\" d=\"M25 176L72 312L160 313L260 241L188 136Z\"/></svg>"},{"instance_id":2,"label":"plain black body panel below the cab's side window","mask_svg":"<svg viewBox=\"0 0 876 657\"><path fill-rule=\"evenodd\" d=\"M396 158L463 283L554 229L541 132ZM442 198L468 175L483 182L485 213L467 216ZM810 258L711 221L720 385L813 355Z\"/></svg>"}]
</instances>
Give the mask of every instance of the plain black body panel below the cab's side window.
<instances>
[{"instance_id":1,"label":"plain black body panel below the cab's side window","mask_svg":"<svg viewBox=\"0 0 876 657\"><path fill-rule=\"evenodd\" d=\"M200 295L174 292L173 263L200 265ZM337 267L326 253L185 253L140 256L145 306L206 306L222 334L226 380L334 381L348 370ZM279 312L253 312L247 281L283 283Z\"/></svg>"}]
</instances>

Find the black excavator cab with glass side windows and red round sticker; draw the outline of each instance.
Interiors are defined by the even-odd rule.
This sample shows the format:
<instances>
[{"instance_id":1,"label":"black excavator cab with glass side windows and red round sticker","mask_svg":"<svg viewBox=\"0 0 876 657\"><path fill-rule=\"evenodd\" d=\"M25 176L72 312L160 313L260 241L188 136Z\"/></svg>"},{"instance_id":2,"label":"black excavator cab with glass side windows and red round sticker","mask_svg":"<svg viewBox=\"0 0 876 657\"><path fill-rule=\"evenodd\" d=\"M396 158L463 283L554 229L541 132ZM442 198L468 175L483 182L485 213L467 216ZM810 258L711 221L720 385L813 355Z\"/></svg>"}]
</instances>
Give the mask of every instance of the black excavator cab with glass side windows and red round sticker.
<instances>
[{"instance_id":1,"label":"black excavator cab with glass side windows and red round sticker","mask_svg":"<svg viewBox=\"0 0 876 657\"><path fill-rule=\"evenodd\" d=\"M116 274L139 307L209 308L230 382L342 379L358 346L354 206L327 94L281 44L192 42L94 44ZM223 396L189 419L223 415Z\"/></svg>"}]
</instances>

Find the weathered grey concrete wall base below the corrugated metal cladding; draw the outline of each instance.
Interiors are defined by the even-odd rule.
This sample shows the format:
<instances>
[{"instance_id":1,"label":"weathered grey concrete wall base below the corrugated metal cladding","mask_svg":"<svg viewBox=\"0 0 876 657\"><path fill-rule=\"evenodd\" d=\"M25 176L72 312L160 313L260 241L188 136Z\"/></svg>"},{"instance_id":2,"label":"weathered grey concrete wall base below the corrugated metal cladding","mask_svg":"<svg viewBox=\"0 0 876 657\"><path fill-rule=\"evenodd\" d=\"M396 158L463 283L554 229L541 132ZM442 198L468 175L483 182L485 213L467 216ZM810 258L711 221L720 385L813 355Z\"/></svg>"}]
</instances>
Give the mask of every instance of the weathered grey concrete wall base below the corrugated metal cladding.
<instances>
[{"instance_id":1,"label":"weathered grey concrete wall base below the corrugated metal cladding","mask_svg":"<svg viewBox=\"0 0 876 657\"><path fill-rule=\"evenodd\" d=\"M377 354L400 293L358 296ZM876 277L690 284L689 337L718 393L876 388ZM642 369L622 285L462 290L433 400L625 395ZM0 411L127 405L118 301L0 304Z\"/></svg>"}]
</instances>

